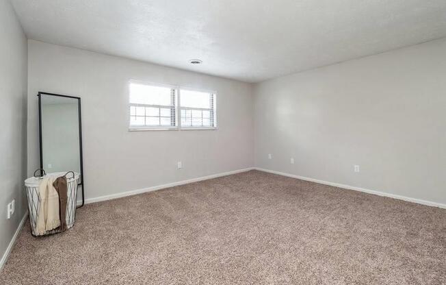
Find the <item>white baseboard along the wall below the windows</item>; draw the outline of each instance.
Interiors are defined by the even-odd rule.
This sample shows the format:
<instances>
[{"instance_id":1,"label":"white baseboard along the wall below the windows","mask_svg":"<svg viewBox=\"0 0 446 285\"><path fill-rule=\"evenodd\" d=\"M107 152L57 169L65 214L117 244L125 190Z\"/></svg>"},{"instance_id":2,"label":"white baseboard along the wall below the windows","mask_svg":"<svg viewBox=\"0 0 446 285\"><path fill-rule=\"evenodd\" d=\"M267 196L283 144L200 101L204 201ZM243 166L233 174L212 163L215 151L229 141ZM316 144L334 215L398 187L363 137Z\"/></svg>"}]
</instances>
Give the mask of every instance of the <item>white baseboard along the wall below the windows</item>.
<instances>
[{"instance_id":1,"label":"white baseboard along the wall below the windows","mask_svg":"<svg viewBox=\"0 0 446 285\"><path fill-rule=\"evenodd\" d=\"M228 171L228 172L224 172L224 173L217 173L217 174L213 174L213 175L208 175L208 176L203 176L203 177L198 177L198 178L192 178L192 179L187 179L187 180L183 180L183 181L179 181L179 182L172 182L172 183L168 183L168 184L152 186L152 187L148 187L148 188L130 190L130 191L120 192L120 193L111 194L111 195L105 195L105 196L100 196L100 197L88 198L88 199L85 200L85 203L86 204L88 204L88 203L96 203L96 202L100 202L100 201L107 201L107 200L117 199L117 198L120 198L120 197L127 197L127 196L131 196L131 195L137 195L137 194L141 194L141 193L146 193L146 192L151 192L151 191L155 191L155 190L160 190L160 189L163 189L163 188L169 188L169 187L189 184L189 183L192 183L192 182L198 182L198 181L202 181L202 180L212 179L212 178L216 178L216 177L222 177L222 176L226 176L226 175L242 173L242 172L250 171L252 169L254 169L254 167L249 167L247 169L238 169L238 170L235 170L235 171ZM81 201L77 201L77 204L80 205Z\"/></svg>"}]
</instances>

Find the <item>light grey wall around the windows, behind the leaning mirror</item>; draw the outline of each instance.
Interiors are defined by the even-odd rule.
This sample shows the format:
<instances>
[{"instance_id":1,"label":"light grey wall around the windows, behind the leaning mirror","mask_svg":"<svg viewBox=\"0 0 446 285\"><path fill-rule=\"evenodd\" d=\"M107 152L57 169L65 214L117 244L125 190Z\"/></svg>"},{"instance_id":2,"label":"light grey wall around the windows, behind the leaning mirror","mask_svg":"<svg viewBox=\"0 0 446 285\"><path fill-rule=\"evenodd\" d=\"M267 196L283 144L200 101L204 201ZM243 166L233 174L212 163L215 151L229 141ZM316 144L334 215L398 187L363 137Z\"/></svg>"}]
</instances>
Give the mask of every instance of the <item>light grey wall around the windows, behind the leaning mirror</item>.
<instances>
[{"instance_id":1,"label":"light grey wall around the windows, behind the leaning mirror","mask_svg":"<svg viewBox=\"0 0 446 285\"><path fill-rule=\"evenodd\" d=\"M130 79L216 90L218 130L129 132ZM254 164L252 85L29 40L28 174L39 165L38 91L81 97L86 198Z\"/></svg>"}]
</instances>

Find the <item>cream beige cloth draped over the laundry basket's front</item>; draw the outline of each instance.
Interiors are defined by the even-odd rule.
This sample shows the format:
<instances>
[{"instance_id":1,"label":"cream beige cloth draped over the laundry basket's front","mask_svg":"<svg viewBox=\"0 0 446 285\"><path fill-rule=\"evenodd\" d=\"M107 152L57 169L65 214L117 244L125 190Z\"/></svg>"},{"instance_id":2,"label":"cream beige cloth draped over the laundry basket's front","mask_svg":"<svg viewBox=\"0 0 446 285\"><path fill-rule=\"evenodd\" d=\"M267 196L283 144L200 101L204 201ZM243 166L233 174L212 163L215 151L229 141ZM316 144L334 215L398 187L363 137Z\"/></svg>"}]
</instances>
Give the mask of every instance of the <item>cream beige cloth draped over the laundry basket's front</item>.
<instances>
[{"instance_id":1,"label":"cream beige cloth draped over the laundry basket's front","mask_svg":"<svg viewBox=\"0 0 446 285\"><path fill-rule=\"evenodd\" d=\"M60 226L59 195L53 186L54 180L53 177L45 177L39 184L40 206L36 222L38 235Z\"/></svg>"}]
</instances>

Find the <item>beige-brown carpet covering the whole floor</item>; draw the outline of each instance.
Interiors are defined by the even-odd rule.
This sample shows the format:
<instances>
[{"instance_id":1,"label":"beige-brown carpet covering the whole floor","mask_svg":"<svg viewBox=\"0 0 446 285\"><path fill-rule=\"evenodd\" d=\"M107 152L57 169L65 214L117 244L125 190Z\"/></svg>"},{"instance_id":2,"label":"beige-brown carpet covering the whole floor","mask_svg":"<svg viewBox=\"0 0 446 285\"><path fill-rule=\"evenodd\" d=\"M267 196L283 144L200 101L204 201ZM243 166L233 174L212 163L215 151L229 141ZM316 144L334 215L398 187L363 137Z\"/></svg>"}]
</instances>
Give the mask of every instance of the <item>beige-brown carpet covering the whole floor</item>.
<instances>
[{"instance_id":1,"label":"beige-brown carpet covering the whole floor","mask_svg":"<svg viewBox=\"0 0 446 285\"><path fill-rule=\"evenodd\" d=\"M27 224L0 284L446 284L446 210L250 171Z\"/></svg>"}]
</instances>

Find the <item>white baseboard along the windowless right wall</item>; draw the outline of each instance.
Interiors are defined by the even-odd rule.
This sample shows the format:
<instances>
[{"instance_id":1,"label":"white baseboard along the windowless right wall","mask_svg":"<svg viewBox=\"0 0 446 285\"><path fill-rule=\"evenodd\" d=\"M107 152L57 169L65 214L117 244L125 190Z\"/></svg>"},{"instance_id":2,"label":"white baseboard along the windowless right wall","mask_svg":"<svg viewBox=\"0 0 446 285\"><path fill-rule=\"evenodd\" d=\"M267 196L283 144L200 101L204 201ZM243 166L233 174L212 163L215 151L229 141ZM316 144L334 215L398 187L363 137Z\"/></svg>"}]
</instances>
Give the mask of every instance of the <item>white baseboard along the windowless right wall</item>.
<instances>
[{"instance_id":1,"label":"white baseboard along the windowless right wall","mask_svg":"<svg viewBox=\"0 0 446 285\"><path fill-rule=\"evenodd\" d=\"M259 167L254 167L254 169L256 169L258 171L264 171L264 172L273 173L273 174L277 174L277 175L283 175L283 176L287 176L287 177L291 177L291 178L301 179L301 180L305 180L305 181L309 181L309 182L315 182L315 183L319 183L319 184L335 186L335 187L344 188L344 189L348 189L348 190L355 190L355 191L360 191L360 192L369 193L369 194L373 194L373 195L389 197L389 198L404 200L404 201L408 201L408 202L412 202L412 203L419 203L419 204L426 205L426 206L433 206L433 207L446 209L446 204L443 204L443 203L436 203L436 202L432 202L432 201L410 198L410 197L406 197L406 196L402 196L402 195L395 195L395 194L380 192L380 191L376 191L376 190L369 190L366 188L360 188L360 187L355 187L355 186L350 186L350 185L345 185L345 184L328 182L328 181L324 181L324 180L319 180L319 179L314 179L314 178L309 178L309 177L304 177L304 176L299 176L299 175L293 175L293 174L289 174L289 173L283 173L280 171L274 171L274 170L270 170L270 169L262 169Z\"/></svg>"}]
</instances>

